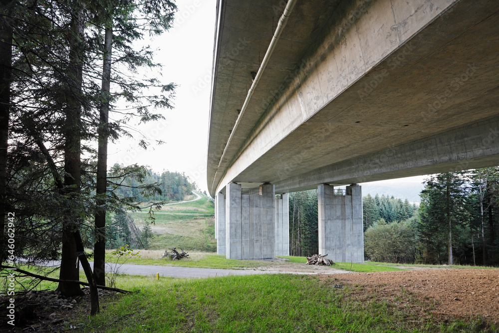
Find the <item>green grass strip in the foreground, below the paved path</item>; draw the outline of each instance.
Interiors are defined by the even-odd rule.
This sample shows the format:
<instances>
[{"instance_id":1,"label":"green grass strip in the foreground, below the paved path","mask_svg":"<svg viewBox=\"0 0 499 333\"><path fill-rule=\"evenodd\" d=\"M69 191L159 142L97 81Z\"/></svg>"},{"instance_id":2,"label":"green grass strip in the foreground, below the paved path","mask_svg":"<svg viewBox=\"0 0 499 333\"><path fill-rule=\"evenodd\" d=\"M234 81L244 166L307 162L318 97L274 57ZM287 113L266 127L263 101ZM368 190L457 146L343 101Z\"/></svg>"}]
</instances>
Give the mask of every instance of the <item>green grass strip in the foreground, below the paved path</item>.
<instances>
[{"instance_id":1,"label":"green grass strip in the foreground, below the paved path","mask_svg":"<svg viewBox=\"0 0 499 333\"><path fill-rule=\"evenodd\" d=\"M79 332L494 332L480 319L441 322L431 305L410 296L384 298L334 281L293 275L211 279L120 276L118 287L140 290L102 300L88 317L80 308L67 326ZM411 302L412 307L397 305Z\"/></svg>"}]
</instances>

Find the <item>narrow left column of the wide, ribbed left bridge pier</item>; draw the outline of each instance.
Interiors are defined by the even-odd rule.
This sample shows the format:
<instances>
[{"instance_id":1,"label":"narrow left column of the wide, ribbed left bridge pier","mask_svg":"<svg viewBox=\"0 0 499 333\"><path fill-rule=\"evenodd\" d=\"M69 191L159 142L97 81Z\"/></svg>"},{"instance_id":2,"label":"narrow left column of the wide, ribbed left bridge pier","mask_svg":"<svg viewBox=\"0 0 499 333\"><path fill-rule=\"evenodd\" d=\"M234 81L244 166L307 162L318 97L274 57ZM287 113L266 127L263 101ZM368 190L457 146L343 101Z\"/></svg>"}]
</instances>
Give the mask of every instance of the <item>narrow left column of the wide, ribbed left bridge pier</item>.
<instances>
[{"instance_id":1,"label":"narrow left column of the wide, ribbed left bridge pier","mask_svg":"<svg viewBox=\"0 0 499 333\"><path fill-rule=\"evenodd\" d=\"M242 259L241 185L229 183L226 189L226 255L227 259Z\"/></svg>"}]
</instances>

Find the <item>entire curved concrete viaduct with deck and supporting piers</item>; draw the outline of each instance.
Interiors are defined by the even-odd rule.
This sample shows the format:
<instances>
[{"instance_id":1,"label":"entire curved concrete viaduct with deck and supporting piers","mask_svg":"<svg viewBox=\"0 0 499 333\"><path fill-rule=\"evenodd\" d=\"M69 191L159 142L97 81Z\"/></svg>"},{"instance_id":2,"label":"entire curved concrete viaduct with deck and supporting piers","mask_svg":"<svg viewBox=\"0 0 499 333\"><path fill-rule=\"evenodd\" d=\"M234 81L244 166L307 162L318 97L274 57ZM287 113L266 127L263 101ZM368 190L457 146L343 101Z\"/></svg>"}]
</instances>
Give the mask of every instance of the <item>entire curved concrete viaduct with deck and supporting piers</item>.
<instances>
[{"instance_id":1,"label":"entire curved concrete viaduct with deck and supporting piers","mask_svg":"<svg viewBox=\"0 0 499 333\"><path fill-rule=\"evenodd\" d=\"M218 253L288 255L288 193L316 188L320 253L363 262L356 184L499 165L498 10L220 0L207 169Z\"/></svg>"}]
</instances>

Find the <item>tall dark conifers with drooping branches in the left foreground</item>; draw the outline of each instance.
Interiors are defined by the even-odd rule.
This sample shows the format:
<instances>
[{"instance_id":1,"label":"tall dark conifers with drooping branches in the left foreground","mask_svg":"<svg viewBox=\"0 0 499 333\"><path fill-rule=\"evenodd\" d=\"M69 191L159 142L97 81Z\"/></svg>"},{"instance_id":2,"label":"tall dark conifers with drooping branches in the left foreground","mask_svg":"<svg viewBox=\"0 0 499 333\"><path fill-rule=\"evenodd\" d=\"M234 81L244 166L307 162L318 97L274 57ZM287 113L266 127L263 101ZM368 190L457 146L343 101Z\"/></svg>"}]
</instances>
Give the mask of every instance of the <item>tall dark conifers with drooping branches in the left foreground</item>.
<instances>
[{"instance_id":1,"label":"tall dark conifers with drooping branches in the left foreground","mask_svg":"<svg viewBox=\"0 0 499 333\"><path fill-rule=\"evenodd\" d=\"M0 263L61 260L57 290L80 296L80 260L90 285L105 285L105 218L137 208L120 197L137 164L108 168L107 145L137 137L137 123L164 119L175 84L140 41L173 22L172 1L6 0L0 6ZM136 75L148 69L154 75ZM120 105L117 108L117 105ZM159 194L141 185L142 198ZM7 220L8 218L8 220ZM7 247L7 223L15 249ZM12 227L13 228L13 227ZM93 272L84 252L94 240ZM35 284L36 285L36 284ZM27 286L24 286L27 289Z\"/></svg>"}]
</instances>

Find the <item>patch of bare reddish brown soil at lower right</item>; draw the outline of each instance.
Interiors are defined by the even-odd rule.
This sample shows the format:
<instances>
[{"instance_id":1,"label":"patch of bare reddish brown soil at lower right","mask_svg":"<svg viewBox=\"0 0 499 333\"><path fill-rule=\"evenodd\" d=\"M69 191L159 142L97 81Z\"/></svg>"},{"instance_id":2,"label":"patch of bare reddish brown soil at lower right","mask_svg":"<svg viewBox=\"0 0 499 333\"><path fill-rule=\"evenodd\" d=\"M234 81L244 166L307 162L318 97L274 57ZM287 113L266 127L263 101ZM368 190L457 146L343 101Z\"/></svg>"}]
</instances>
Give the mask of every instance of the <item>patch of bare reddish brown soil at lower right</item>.
<instances>
[{"instance_id":1,"label":"patch of bare reddish brown soil at lower right","mask_svg":"<svg viewBox=\"0 0 499 333\"><path fill-rule=\"evenodd\" d=\"M499 323L499 269L439 269L323 275L335 283L376 289L387 294L408 292L436 301L443 316L480 315Z\"/></svg>"}]
</instances>

